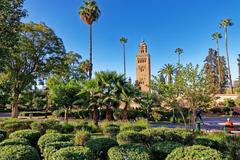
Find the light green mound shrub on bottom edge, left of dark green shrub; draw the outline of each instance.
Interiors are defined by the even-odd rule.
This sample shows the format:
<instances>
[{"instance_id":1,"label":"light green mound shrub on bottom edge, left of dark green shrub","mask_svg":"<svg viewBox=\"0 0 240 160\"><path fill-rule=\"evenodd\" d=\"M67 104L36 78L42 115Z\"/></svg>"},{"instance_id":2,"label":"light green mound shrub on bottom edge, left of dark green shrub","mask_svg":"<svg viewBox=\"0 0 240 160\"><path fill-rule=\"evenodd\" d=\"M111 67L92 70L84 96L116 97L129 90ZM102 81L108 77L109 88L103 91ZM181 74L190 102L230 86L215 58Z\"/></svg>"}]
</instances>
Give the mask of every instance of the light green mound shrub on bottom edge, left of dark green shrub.
<instances>
[{"instance_id":1,"label":"light green mound shrub on bottom edge, left of dark green shrub","mask_svg":"<svg viewBox=\"0 0 240 160\"><path fill-rule=\"evenodd\" d=\"M93 154L89 148L77 146L62 148L52 156L49 160L93 160Z\"/></svg>"}]
</instances>

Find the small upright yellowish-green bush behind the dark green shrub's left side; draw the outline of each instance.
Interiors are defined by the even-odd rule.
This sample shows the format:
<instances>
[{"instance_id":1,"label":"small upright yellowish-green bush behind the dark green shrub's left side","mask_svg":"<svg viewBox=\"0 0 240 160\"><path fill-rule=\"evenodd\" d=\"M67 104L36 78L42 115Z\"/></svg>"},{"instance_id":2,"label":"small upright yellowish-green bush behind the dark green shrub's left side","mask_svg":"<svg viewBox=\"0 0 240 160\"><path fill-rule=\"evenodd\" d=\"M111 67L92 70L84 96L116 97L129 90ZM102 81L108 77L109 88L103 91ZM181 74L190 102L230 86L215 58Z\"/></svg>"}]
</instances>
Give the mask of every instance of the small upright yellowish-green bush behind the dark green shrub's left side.
<instances>
[{"instance_id":1,"label":"small upright yellowish-green bush behind the dark green shrub's left side","mask_svg":"<svg viewBox=\"0 0 240 160\"><path fill-rule=\"evenodd\" d=\"M91 138L91 134L87 131L81 130L75 133L74 144L84 145Z\"/></svg>"}]
</instances>

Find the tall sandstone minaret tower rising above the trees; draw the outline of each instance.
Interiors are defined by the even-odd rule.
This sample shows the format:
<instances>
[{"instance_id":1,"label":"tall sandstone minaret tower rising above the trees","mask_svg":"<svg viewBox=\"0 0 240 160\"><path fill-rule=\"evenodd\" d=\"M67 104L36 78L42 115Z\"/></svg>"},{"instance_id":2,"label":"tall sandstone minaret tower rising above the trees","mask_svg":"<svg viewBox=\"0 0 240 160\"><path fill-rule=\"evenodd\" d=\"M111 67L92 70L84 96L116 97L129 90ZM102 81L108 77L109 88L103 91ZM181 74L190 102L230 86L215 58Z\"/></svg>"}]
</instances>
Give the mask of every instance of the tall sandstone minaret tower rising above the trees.
<instances>
[{"instance_id":1,"label":"tall sandstone minaret tower rising above the trees","mask_svg":"<svg viewBox=\"0 0 240 160\"><path fill-rule=\"evenodd\" d=\"M136 83L141 91L148 92L150 90L151 80L151 63L148 54L147 44L142 41L139 45L139 52L136 56Z\"/></svg>"}]
</instances>

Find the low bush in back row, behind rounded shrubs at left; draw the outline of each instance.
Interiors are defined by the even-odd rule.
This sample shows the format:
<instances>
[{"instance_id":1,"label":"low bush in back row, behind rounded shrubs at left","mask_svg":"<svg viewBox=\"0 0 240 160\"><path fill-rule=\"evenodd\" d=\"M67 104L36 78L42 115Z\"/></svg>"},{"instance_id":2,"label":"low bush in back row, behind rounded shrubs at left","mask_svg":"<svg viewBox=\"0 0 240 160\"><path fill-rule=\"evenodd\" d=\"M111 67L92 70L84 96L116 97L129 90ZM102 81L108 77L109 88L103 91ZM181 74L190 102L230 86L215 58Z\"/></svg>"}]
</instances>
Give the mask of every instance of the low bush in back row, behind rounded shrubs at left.
<instances>
[{"instance_id":1,"label":"low bush in back row, behind rounded shrubs at left","mask_svg":"<svg viewBox=\"0 0 240 160\"><path fill-rule=\"evenodd\" d=\"M33 122L31 124L31 128L33 130L38 130L42 135L48 129L61 131L61 125L59 124L58 121L55 121L55 120L46 120L46 121L41 121L41 122Z\"/></svg>"}]
</instances>

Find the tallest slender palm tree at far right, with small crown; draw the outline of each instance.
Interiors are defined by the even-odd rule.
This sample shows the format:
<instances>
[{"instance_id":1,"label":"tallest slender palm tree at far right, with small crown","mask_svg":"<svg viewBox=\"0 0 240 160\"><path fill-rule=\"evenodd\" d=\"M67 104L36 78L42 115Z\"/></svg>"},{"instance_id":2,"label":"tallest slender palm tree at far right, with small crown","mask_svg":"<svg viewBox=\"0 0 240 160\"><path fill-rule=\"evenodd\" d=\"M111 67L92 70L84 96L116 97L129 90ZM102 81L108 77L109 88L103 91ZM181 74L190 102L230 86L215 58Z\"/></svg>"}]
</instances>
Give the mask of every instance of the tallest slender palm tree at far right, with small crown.
<instances>
[{"instance_id":1,"label":"tallest slender palm tree at far right, with small crown","mask_svg":"<svg viewBox=\"0 0 240 160\"><path fill-rule=\"evenodd\" d=\"M231 94L234 93L233 91L233 84L232 84L232 76L231 76L231 69L230 69L230 62L229 62L229 54L228 54L228 27L233 25L233 22L229 18L225 18L221 20L220 22L220 27L224 29L224 34L225 34L225 48L226 48L226 58L227 58L227 65L228 65L228 78L230 81L230 89L231 89Z\"/></svg>"}]
</instances>

